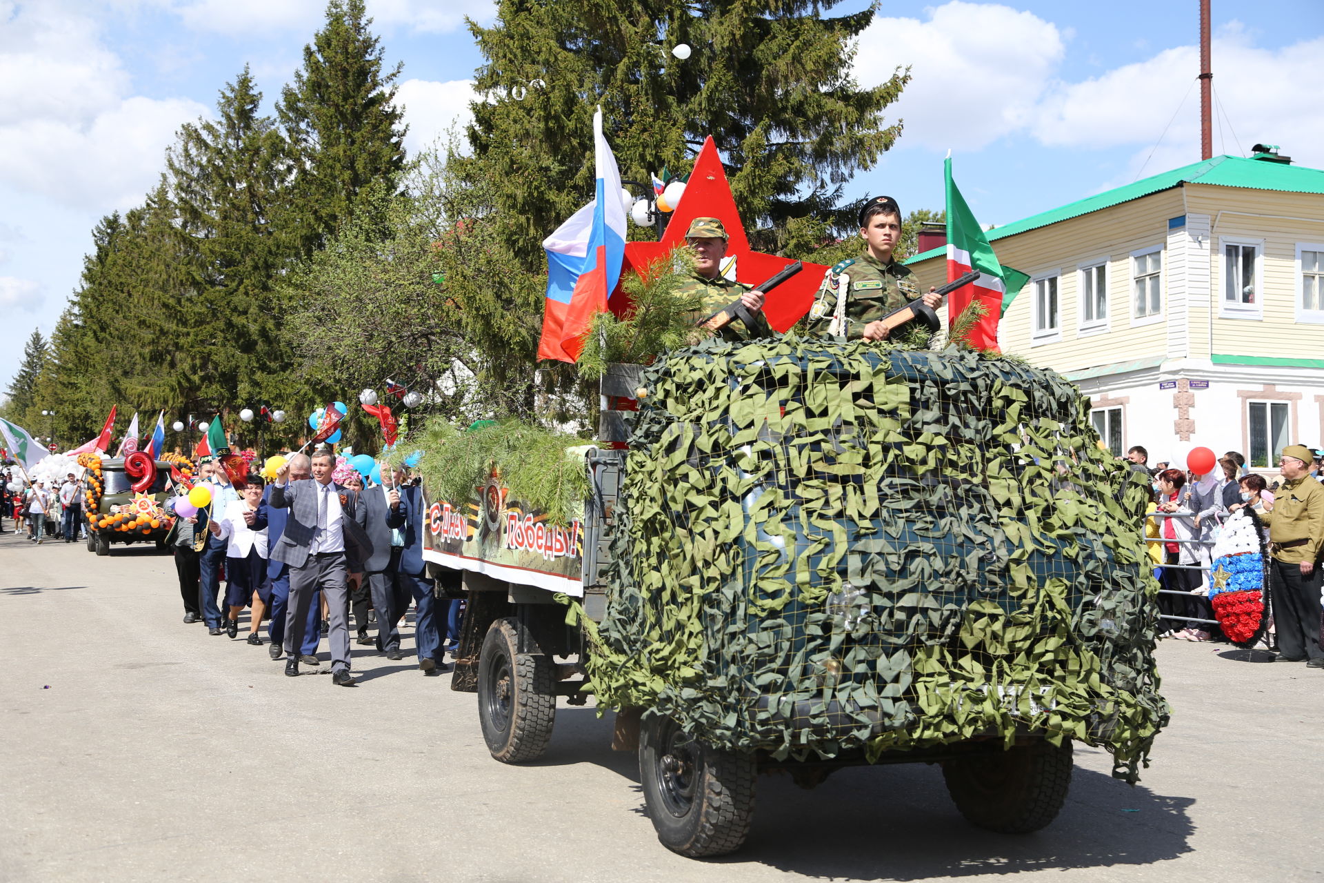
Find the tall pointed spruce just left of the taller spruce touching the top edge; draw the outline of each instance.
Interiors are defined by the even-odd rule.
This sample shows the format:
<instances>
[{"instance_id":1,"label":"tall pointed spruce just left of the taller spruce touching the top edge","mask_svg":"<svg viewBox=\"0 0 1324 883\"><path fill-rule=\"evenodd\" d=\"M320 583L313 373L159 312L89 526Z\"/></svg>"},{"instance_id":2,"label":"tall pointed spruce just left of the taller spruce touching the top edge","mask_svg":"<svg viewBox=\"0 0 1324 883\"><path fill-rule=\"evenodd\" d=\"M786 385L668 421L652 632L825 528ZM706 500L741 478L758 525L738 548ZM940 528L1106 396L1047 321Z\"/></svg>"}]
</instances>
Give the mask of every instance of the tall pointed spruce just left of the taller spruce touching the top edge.
<instances>
[{"instance_id":1,"label":"tall pointed spruce just left of the taller spruce touching the top edge","mask_svg":"<svg viewBox=\"0 0 1324 883\"><path fill-rule=\"evenodd\" d=\"M245 66L220 93L220 119L184 124L167 156L191 277L176 340L199 409L257 402L291 363L273 286L295 252L293 163L275 120L258 114L261 101Z\"/></svg>"}]
</instances>

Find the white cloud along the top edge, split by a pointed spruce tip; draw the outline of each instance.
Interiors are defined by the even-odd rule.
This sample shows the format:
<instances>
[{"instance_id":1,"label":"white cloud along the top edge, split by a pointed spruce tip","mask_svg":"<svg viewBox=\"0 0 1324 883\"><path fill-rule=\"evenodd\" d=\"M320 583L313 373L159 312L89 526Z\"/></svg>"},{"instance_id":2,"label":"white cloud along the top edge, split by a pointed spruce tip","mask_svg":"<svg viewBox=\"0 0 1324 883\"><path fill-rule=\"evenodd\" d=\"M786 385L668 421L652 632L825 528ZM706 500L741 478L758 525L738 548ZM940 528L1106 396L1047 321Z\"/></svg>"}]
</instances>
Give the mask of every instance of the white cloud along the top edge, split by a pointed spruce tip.
<instances>
[{"instance_id":1,"label":"white cloud along the top edge, split by a pointed spruce tip","mask_svg":"<svg viewBox=\"0 0 1324 883\"><path fill-rule=\"evenodd\" d=\"M326 0L192 0L176 3L175 13L189 28L241 37L270 30L311 34L326 16ZM373 29L448 33L463 26L465 16L486 21L493 0L368 0Z\"/></svg>"}]
</instances>

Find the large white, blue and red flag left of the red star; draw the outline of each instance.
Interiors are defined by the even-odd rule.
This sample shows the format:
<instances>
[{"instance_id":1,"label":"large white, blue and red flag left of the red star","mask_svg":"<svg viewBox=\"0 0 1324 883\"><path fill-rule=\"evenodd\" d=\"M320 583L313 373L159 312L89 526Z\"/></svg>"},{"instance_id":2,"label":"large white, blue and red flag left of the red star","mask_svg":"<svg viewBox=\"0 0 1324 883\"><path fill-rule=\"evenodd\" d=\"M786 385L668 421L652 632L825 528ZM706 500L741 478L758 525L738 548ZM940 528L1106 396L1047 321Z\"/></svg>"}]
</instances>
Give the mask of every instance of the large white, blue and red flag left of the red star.
<instances>
[{"instance_id":1,"label":"large white, blue and red flag left of the red star","mask_svg":"<svg viewBox=\"0 0 1324 883\"><path fill-rule=\"evenodd\" d=\"M547 252L547 307L539 359L575 361L593 316L621 278L625 257L625 204L621 173L602 136L602 109L593 114L597 188L593 201L543 240Z\"/></svg>"}]
</instances>

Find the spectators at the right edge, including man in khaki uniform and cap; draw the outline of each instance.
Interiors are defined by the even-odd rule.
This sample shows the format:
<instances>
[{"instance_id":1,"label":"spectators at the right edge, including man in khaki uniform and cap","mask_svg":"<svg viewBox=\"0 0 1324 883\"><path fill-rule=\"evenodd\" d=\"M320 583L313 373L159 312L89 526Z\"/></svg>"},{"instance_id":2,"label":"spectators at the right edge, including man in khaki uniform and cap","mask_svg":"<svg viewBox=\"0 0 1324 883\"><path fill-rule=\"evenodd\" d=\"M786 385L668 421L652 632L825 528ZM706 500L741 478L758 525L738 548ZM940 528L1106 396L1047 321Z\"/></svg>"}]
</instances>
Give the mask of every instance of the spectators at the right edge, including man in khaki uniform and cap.
<instances>
[{"instance_id":1,"label":"spectators at the right edge, including man in khaki uniform and cap","mask_svg":"<svg viewBox=\"0 0 1324 883\"><path fill-rule=\"evenodd\" d=\"M1149 553L1165 589L1158 596L1164 618L1160 637L1181 641L1218 639L1218 626L1207 602L1211 551L1226 519L1253 510L1264 524L1270 556L1271 637L1280 659L1305 661L1324 669L1320 557L1324 555L1324 450L1307 445L1283 449L1272 483L1246 469L1238 451L1223 454L1215 467L1197 474L1149 467L1148 451L1136 445L1127 451L1132 469L1152 482L1153 500L1145 530Z\"/></svg>"}]
</instances>

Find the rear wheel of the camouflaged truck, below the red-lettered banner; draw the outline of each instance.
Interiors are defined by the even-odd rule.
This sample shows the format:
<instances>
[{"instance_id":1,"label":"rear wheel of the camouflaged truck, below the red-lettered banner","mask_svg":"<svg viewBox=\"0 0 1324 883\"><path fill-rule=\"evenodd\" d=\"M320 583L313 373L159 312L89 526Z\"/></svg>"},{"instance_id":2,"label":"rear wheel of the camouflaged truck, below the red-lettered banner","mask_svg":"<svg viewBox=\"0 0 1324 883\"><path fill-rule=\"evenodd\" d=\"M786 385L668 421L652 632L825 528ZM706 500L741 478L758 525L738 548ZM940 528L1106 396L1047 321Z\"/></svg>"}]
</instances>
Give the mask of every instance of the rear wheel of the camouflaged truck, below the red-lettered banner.
<instances>
[{"instance_id":1,"label":"rear wheel of the camouflaged truck, below the red-lettered banner","mask_svg":"<svg viewBox=\"0 0 1324 883\"><path fill-rule=\"evenodd\" d=\"M534 653L520 653L519 647ZM496 620L478 654L478 723L493 757L519 764L540 757L556 721L549 657L519 620Z\"/></svg>"}]
</instances>

